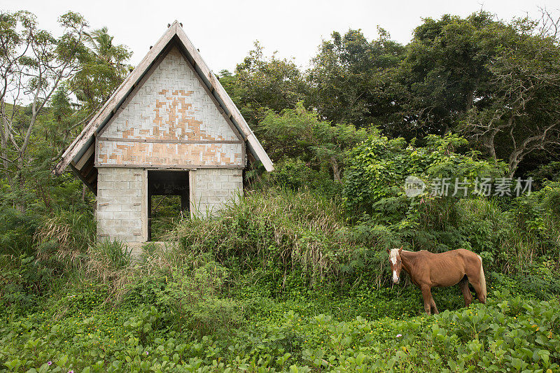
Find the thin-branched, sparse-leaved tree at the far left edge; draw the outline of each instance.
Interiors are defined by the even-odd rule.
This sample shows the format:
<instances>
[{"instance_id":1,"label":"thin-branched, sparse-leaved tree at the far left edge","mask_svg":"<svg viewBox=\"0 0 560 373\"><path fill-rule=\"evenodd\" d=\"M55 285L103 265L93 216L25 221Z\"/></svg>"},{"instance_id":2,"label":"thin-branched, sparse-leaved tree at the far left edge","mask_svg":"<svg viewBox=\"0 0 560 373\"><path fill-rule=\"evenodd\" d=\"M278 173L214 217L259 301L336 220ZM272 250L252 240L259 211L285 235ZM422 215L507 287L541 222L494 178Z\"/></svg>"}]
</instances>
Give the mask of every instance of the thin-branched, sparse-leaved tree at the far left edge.
<instances>
[{"instance_id":1,"label":"thin-branched, sparse-leaved tree at the far left edge","mask_svg":"<svg viewBox=\"0 0 560 373\"><path fill-rule=\"evenodd\" d=\"M64 34L55 38L38 29L29 12L0 13L0 158L14 190L24 184L38 118L57 88L76 74L85 51L83 17L69 12L59 23Z\"/></svg>"}]
</instances>

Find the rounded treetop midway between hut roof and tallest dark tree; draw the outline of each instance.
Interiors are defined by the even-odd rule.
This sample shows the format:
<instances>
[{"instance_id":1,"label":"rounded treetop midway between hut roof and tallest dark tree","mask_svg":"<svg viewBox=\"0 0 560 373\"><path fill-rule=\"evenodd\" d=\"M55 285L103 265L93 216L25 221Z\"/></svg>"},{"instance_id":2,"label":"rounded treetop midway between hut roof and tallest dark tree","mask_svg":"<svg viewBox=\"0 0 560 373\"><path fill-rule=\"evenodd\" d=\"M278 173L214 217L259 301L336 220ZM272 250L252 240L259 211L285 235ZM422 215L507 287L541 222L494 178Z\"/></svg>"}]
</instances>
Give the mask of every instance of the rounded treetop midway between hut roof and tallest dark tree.
<instances>
[{"instance_id":1,"label":"rounded treetop midway between hut roof and tallest dark tree","mask_svg":"<svg viewBox=\"0 0 560 373\"><path fill-rule=\"evenodd\" d=\"M367 41L361 30L341 36L333 32L323 41L307 71L311 85L309 105L325 120L348 122L358 127L384 125L396 111L395 85L390 73L400 64L405 47L391 41L384 29ZM390 89L387 90L387 87Z\"/></svg>"}]
</instances>

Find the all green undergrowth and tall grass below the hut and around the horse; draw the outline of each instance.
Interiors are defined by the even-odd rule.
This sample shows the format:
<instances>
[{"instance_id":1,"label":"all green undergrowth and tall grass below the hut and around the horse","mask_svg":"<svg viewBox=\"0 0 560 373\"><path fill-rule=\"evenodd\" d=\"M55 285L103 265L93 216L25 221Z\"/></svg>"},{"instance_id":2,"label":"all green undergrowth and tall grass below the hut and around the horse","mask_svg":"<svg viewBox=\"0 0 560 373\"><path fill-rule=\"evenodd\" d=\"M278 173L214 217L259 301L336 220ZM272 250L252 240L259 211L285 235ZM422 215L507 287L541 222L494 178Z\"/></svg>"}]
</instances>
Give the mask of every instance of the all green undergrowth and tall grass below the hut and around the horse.
<instances>
[{"instance_id":1,"label":"all green undergrowth and tall grass below the hut and around the horse","mask_svg":"<svg viewBox=\"0 0 560 373\"><path fill-rule=\"evenodd\" d=\"M445 311L425 316L419 290L389 283L381 238L367 244L341 206L313 192L249 193L133 261L118 242L73 253L72 227L88 225L59 216L45 224L66 232L55 253L41 244L48 260L1 257L0 370L560 370L555 260L536 253L510 272L488 262L487 304L463 308L458 288L442 288Z\"/></svg>"}]
</instances>

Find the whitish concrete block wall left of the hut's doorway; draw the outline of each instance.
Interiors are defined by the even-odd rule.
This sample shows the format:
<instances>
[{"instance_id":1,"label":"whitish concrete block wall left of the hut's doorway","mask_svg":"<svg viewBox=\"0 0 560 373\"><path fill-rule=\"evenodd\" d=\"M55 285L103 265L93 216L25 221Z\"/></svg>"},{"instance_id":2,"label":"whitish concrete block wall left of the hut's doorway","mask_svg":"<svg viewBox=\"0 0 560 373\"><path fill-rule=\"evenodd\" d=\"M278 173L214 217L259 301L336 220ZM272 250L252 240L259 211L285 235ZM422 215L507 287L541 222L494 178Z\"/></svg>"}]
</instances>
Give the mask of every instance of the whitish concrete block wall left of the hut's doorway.
<instances>
[{"instance_id":1,"label":"whitish concrete block wall left of the hut's doorway","mask_svg":"<svg viewBox=\"0 0 560 373\"><path fill-rule=\"evenodd\" d=\"M146 170L99 168L97 238L146 241Z\"/></svg>"}]
</instances>

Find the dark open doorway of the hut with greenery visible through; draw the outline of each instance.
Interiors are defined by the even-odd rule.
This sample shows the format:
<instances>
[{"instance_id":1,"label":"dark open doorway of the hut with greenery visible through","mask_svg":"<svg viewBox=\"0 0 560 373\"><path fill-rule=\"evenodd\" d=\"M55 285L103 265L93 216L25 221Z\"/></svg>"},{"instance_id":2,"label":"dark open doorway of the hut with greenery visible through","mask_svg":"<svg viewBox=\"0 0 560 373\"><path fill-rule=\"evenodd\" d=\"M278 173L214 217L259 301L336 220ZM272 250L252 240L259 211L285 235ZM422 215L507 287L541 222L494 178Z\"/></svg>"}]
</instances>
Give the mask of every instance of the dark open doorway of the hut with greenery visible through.
<instances>
[{"instance_id":1,"label":"dark open doorway of the hut with greenery visible through","mask_svg":"<svg viewBox=\"0 0 560 373\"><path fill-rule=\"evenodd\" d=\"M148 241L163 241L190 216L188 171L148 170Z\"/></svg>"}]
</instances>

